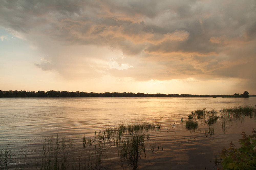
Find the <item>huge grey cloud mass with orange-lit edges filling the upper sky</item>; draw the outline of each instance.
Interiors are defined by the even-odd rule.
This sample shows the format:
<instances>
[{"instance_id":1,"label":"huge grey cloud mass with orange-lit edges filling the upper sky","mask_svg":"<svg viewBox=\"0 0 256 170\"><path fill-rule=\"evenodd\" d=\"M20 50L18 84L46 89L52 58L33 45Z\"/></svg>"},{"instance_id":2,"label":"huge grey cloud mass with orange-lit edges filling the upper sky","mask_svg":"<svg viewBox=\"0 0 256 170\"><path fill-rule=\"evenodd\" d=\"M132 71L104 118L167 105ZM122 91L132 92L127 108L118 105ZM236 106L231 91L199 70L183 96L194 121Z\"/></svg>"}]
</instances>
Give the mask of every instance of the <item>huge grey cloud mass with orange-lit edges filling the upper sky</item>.
<instances>
[{"instance_id":1,"label":"huge grey cloud mass with orange-lit edges filling the upper sky","mask_svg":"<svg viewBox=\"0 0 256 170\"><path fill-rule=\"evenodd\" d=\"M139 81L193 77L252 82L255 3L3 0L0 25L48 55L50 62L37 67L69 78L112 75ZM111 56L114 53L118 56Z\"/></svg>"}]
</instances>

